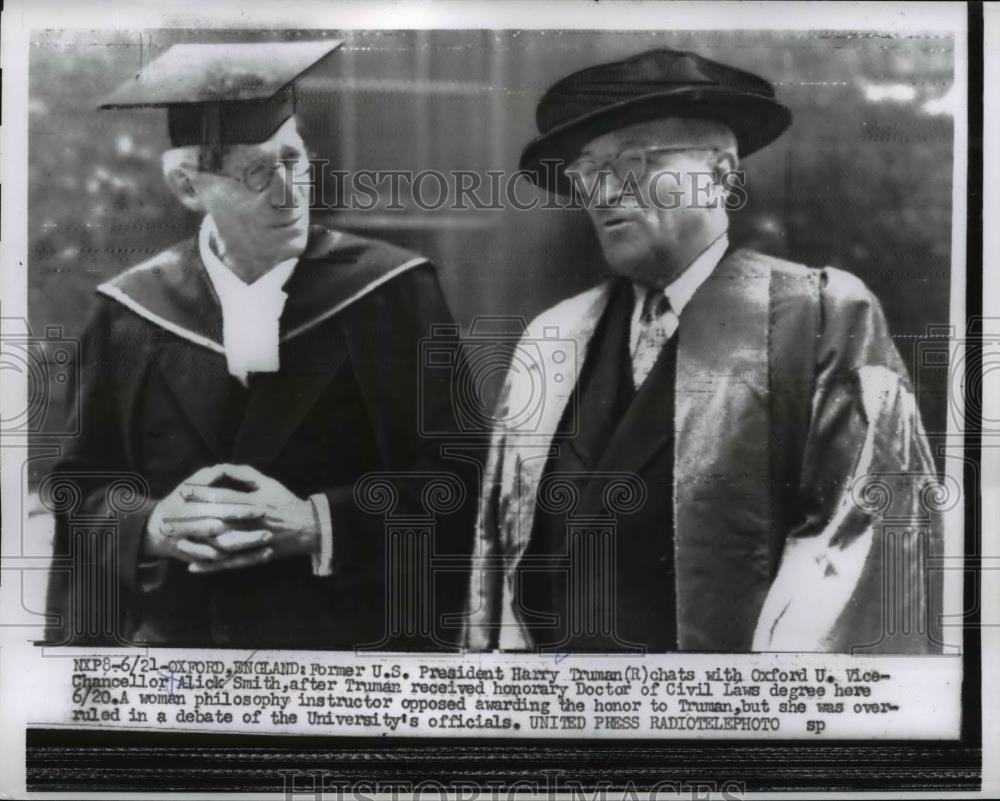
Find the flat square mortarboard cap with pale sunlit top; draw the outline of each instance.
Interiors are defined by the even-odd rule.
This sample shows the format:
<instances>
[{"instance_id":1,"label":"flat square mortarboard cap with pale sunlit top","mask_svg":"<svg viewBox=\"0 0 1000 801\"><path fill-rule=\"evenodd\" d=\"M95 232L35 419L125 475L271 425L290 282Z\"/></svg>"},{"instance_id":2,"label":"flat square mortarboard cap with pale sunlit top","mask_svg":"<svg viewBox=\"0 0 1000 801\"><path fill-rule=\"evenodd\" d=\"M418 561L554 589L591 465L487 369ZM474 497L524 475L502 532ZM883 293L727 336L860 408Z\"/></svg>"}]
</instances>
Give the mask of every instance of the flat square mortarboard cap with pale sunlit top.
<instances>
[{"instance_id":1,"label":"flat square mortarboard cap with pale sunlit top","mask_svg":"<svg viewBox=\"0 0 1000 801\"><path fill-rule=\"evenodd\" d=\"M295 113L295 79L341 44L176 44L101 108L165 107L174 147L263 142Z\"/></svg>"}]
</instances>

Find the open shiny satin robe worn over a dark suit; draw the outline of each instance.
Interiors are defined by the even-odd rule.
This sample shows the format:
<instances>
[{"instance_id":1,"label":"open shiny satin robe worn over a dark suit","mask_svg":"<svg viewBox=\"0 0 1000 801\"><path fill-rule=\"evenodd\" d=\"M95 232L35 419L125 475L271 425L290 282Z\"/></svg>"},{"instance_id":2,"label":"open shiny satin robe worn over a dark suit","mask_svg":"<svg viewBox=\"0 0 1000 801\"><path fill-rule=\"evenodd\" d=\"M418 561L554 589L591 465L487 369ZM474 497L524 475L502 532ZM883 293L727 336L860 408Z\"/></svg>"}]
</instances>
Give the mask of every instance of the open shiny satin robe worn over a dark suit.
<instances>
[{"instance_id":1,"label":"open shiny satin robe worn over a dark suit","mask_svg":"<svg viewBox=\"0 0 1000 801\"><path fill-rule=\"evenodd\" d=\"M549 346L507 376L498 420L529 407L532 394L541 402L530 420L493 435L468 648L534 645L517 566L610 285L549 309L525 334L522 349L548 338L575 358L554 363ZM937 650L928 608L940 591L927 560L941 551L940 483L875 298L842 271L738 250L684 308L677 337L672 419L647 399L644 424L626 426L601 469L638 477L640 494L662 492L646 468L673 443L680 650ZM630 503L619 514L634 512Z\"/></svg>"}]
</instances>

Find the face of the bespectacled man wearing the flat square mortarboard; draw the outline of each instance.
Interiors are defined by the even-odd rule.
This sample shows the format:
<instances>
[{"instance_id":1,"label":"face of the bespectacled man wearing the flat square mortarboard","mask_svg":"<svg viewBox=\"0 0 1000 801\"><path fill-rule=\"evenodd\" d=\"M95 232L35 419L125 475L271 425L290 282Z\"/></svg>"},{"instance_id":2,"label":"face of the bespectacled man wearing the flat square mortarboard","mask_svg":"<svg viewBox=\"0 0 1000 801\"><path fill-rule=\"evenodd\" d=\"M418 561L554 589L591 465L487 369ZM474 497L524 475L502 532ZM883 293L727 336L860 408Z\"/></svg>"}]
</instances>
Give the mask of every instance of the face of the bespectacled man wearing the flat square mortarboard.
<instances>
[{"instance_id":1,"label":"face of the bespectacled man wearing the flat square mortarboard","mask_svg":"<svg viewBox=\"0 0 1000 801\"><path fill-rule=\"evenodd\" d=\"M271 264L300 256L309 235L309 161L295 118L265 142L233 146L222 162L222 174L197 172L193 180L227 247Z\"/></svg>"}]
</instances>

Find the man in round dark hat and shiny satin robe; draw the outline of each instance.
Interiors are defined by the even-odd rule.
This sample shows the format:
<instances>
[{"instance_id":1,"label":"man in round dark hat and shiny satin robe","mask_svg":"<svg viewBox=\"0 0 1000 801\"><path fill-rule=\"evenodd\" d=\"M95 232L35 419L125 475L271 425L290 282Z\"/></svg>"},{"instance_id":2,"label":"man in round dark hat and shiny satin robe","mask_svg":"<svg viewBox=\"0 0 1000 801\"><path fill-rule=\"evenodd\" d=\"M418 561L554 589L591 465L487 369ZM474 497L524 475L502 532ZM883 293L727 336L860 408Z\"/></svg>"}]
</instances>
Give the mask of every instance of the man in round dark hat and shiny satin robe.
<instances>
[{"instance_id":1,"label":"man in round dark hat and shiny satin robe","mask_svg":"<svg viewBox=\"0 0 1000 801\"><path fill-rule=\"evenodd\" d=\"M525 353L557 332L576 362L507 377L497 419L538 385L544 408L493 437L466 646L933 650L935 468L879 304L728 240L739 159L791 120L771 85L655 50L537 119L521 166L583 200L615 277L529 326ZM869 479L923 525L886 539Z\"/></svg>"}]
</instances>

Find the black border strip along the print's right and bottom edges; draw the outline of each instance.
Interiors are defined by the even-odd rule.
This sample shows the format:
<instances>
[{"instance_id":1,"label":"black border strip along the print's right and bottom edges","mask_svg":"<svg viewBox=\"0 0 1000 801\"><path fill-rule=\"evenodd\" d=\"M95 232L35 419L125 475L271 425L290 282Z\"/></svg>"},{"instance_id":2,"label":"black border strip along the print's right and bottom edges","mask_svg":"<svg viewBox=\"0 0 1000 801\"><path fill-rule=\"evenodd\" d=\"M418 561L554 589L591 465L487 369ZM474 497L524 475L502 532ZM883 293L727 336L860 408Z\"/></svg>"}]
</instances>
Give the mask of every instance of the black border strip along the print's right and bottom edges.
<instances>
[{"instance_id":1,"label":"black border strip along the print's right and bottom edges","mask_svg":"<svg viewBox=\"0 0 1000 801\"><path fill-rule=\"evenodd\" d=\"M602 4L603 5L603 4ZM966 376L983 376L984 9L967 5L965 241ZM6 16L7 14L5 14ZM7 21L7 20L5 20ZM358 26L360 27L360 26ZM401 23L399 27L406 27ZM8 74L8 86L11 81ZM6 87L5 87L6 88ZM957 146L957 142L956 142ZM954 303L954 299L953 299ZM744 793L818 790L973 791L983 777L980 487L982 382L968 381L963 489L961 735L957 740L517 740L220 735L31 728L23 762L31 791L281 792L309 797L439 787L478 799L515 792L628 790ZM5 665L9 669L9 664ZM2 679L2 674L0 674ZM5 748L6 751L6 748ZM5 757L6 760L6 757ZM169 766L169 767L165 767ZM317 786L316 782L320 785ZM312 784L310 784L312 782ZM6 788L5 788L6 789ZM476 793L470 795L470 793ZM595 796L596 797L596 796ZM698 796L701 797L701 796Z\"/></svg>"}]
</instances>

